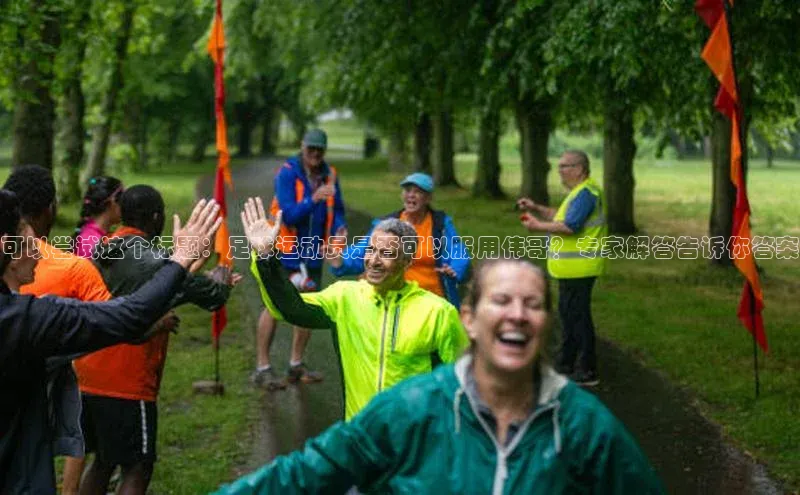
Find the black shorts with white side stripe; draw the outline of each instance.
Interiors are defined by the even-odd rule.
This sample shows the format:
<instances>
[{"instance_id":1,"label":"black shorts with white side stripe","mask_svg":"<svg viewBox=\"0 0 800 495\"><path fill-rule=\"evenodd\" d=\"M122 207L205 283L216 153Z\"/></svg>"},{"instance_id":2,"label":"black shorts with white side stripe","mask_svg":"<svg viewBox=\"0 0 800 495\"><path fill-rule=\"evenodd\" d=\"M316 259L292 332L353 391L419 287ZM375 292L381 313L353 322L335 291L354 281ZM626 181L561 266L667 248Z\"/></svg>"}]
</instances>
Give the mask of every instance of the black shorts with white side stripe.
<instances>
[{"instance_id":1,"label":"black shorts with white side stripe","mask_svg":"<svg viewBox=\"0 0 800 495\"><path fill-rule=\"evenodd\" d=\"M104 464L156 461L156 403L83 394L81 424L86 452Z\"/></svg>"}]
</instances>

